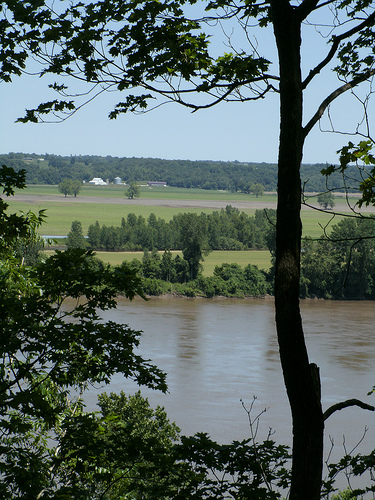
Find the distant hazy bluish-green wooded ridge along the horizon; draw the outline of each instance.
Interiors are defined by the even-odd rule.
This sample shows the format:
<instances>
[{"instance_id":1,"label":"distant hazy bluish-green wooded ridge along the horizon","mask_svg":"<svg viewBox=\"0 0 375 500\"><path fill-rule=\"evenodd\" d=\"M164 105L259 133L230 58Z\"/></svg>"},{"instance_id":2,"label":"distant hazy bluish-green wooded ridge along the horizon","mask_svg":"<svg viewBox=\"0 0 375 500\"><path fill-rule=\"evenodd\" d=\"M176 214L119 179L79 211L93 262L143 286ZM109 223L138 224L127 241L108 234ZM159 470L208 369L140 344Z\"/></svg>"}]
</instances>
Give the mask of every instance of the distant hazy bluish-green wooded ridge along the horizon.
<instances>
[{"instance_id":1,"label":"distant hazy bluish-green wooded ridge along the horizon","mask_svg":"<svg viewBox=\"0 0 375 500\"><path fill-rule=\"evenodd\" d=\"M59 184L64 179L82 182L101 177L113 182L116 177L129 183L164 181L169 186L219 189L249 192L250 186L262 184L266 191L277 189L277 167L269 163L240 163L220 161L162 160L156 158L117 158L101 156L0 155L0 161L15 170L25 169L28 184ZM320 171L325 164L304 165L301 178L305 191L326 189ZM352 172L349 172L352 174ZM354 171L353 171L354 174ZM340 188L339 173L329 180L331 188ZM355 184L355 183L354 183Z\"/></svg>"}]
</instances>

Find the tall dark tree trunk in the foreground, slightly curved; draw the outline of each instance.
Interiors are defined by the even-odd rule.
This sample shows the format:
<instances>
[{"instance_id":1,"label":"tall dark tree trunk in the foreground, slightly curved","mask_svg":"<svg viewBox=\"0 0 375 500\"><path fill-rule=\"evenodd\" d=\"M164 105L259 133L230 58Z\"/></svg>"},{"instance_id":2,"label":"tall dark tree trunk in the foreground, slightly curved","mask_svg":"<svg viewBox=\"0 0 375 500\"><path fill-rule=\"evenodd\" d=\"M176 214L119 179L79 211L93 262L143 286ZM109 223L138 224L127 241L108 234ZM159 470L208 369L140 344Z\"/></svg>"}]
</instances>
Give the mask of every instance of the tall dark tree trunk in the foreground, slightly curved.
<instances>
[{"instance_id":1,"label":"tall dark tree trunk in the foreground, slightly curved","mask_svg":"<svg viewBox=\"0 0 375 500\"><path fill-rule=\"evenodd\" d=\"M290 500L320 498L324 421L319 371L309 364L299 307L302 224L301 22L287 0L273 0L272 22L280 65L280 144L276 223L276 328L292 411L293 462Z\"/></svg>"}]
</instances>

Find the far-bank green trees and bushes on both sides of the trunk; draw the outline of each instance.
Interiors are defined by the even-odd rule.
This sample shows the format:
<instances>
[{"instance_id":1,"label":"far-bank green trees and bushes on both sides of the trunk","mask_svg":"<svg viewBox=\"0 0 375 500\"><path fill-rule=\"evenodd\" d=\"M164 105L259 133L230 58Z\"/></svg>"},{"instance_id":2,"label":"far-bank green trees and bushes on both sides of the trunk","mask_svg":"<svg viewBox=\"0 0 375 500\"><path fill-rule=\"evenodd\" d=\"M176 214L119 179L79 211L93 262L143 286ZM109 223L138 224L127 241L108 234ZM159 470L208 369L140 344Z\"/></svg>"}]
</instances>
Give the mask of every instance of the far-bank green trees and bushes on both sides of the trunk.
<instances>
[{"instance_id":1,"label":"far-bank green trees and bushes on both sides of the trunk","mask_svg":"<svg viewBox=\"0 0 375 500\"><path fill-rule=\"evenodd\" d=\"M68 246L143 250L142 260L131 265L150 295L259 296L273 293L273 266L264 272L222 264L203 277L201 263L210 250L268 248L274 256L274 219L274 210L249 216L231 206L212 214L179 214L168 223L154 214L147 220L129 214L119 227L90 226L86 240L75 221ZM182 250L182 257L170 250ZM332 226L328 238L304 239L301 266L303 298L375 299L375 218L346 218Z\"/></svg>"}]
</instances>

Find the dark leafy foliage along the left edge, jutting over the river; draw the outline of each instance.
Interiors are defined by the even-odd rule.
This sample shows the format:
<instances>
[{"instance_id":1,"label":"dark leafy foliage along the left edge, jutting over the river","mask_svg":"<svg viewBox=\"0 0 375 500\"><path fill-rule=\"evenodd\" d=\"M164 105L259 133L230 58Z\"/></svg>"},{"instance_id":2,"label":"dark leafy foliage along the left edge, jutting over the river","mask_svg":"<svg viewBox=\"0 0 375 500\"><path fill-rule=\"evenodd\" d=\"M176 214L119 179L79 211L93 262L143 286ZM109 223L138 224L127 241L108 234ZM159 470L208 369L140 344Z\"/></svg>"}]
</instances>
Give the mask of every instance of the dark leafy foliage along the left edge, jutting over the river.
<instances>
[{"instance_id":1,"label":"dark leafy foliage along the left edge, jutting over the river","mask_svg":"<svg viewBox=\"0 0 375 500\"><path fill-rule=\"evenodd\" d=\"M22 186L23 174L3 168L1 175L6 193ZM0 496L9 499L50 498L60 487L51 439L81 412L88 384L122 373L166 390L165 375L134 352L141 332L100 317L118 294L142 294L139 278L126 266L99 265L82 249L25 266L13 248L40 217L0 216Z\"/></svg>"}]
</instances>

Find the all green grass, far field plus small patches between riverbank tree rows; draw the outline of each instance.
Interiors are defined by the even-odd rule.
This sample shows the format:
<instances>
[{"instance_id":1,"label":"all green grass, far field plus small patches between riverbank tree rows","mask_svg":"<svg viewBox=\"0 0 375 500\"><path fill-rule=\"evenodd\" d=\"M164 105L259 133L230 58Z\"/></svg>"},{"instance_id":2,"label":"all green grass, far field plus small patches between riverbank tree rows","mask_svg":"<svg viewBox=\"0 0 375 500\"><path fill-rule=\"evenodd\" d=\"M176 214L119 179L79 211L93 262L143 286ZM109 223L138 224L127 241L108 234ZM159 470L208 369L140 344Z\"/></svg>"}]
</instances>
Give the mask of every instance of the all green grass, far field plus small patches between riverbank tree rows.
<instances>
[{"instance_id":1,"label":"all green grass, far field plus small patches between riverbank tree rows","mask_svg":"<svg viewBox=\"0 0 375 500\"><path fill-rule=\"evenodd\" d=\"M145 205L132 205L132 204L111 204L106 203L106 198L123 198L124 186L84 186L79 198L85 196L94 196L98 198L96 203L79 203L75 200L74 203L69 203L61 196L61 201L47 201L43 197L48 195L56 195L56 186L30 186L23 194L30 196L40 196L38 200L33 203L21 203L18 201L7 200L10 205L10 211L37 211L42 208L47 209L47 221L41 228L41 234L64 236L70 231L71 223L74 220L79 220L82 223L83 232L86 234L90 224L94 224L96 220L100 225L114 225L118 226L121 223L122 217L127 217L129 213L135 213L137 216L142 215L147 218L150 213L155 213L157 217L165 220L170 220L175 214L181 212L212 212L212 209L204 209L201 207L186 208L186 207L166 207L153 205L148 201ZM179 188L152 188L147 187L141 189L141 199L173 199L173 200L221 200L227 201L244 201L245 198L249 199L249 195L240 193L228 193L221 191L206 191L199 189L179 189ZM252 201L254 197L250 197ZM258 199L259 202L276 202L276 195L266 195ZM344 211L346 208L344 199L336 200L336 208ZM246 213L252 214L253 209L245 210ZM304 236L318 237L322 234L322 226L325 226L330 220L330 214L313 210L302 210L302 223ZM339 217L335 218L335 223ZM97 252L98 257L104 262L112 265L121 264L124 260L130 261L134 258L141 259L142 252ZM212 275L216 265L223 262L238 263L241 266L247 264L257 265L260 269L269 269L271 265L271 256L268 251L214 251L205 257L203 268L205 275Z\"/></svg>"}]
</instances>

